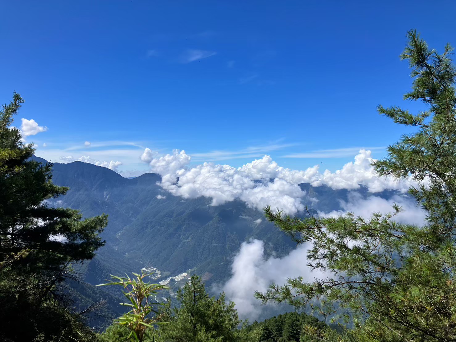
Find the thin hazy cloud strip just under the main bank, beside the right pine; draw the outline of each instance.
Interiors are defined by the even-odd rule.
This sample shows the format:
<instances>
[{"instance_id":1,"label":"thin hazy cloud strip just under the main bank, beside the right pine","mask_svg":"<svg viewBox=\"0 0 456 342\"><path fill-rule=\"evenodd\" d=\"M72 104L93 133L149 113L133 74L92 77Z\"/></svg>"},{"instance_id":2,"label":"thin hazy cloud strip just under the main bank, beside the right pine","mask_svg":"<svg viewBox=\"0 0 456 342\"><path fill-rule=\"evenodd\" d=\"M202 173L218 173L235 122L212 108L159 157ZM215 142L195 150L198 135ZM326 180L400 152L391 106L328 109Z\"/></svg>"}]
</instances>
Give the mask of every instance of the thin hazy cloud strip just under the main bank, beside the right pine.
<instances>
[{"instance_id":1,"label":"thin hazy cloud strip just under the main bank, beside the right pine","mask_svg":"<svg viewBox=\"0 0 456 342\"><path fill-rule=\"evenodd\" d=\"M332 212L318 212L319 216L341 216L346 212L353 212L356 216L369 218L373 212L387 213L393 211L393 204L397 203L402 207L394 221L399 223L410 223L421 226L425 224L425 211L421 207L416 206L416 201L405 195L394 195L386 200L377 196L370 196L366 199L362 198L358 192L348 194L348 201L340 201L342 210L334 210Z\"/></svg>"}]
</instances>

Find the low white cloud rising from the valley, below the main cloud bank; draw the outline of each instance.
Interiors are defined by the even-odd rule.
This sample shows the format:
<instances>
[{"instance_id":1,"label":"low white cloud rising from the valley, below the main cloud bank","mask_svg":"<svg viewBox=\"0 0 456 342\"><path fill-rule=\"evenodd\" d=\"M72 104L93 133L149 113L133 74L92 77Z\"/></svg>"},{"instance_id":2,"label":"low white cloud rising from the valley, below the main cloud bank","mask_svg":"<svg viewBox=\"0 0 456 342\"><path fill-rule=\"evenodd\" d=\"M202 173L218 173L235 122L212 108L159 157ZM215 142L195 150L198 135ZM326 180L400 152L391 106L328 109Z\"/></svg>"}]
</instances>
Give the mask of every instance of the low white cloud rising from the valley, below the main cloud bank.
<instances>
[{"instance_id":1,"label":"low white cloud rising from the valley, below the main cloud bank","mask_svg":"<svg viewBox=\"0 0 456 342\"><path fill-rule=\"evenodd\" d=\"M264 291L271 283L285 284L289 277L303 276L304 280L323 279L321 272L311 271L306 264L307 248L300 245L283 258L265 258L264 243L252 240L241 244L233 260L232 276L223 285L227 298L236 303L239 317L255 320L261 313L255 290Z\"/></svg>"}]
</instances>

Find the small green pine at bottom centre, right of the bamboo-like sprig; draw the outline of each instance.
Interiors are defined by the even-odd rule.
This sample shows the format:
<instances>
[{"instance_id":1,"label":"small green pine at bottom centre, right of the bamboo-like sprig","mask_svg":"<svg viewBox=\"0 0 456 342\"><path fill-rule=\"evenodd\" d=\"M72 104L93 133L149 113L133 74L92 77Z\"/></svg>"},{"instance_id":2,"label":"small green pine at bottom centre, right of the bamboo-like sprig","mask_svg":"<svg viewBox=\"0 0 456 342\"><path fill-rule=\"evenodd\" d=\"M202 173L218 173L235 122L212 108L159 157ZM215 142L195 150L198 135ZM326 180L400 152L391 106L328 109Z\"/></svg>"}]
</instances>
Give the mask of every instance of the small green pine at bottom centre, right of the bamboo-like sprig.
<instances>
[{"instance_id":1,"label":"small green pine at bottom centre, right of the bamboo-like sprig","mask_svg":"<svg viewBox=\"0 0 456 342\"><path fill-rule=\"evenodd\" d=\"M159 328L163 342L241 342L234 303L207 295L204 283L193 275L177 292L178 306L166 305L163 319L169 322Z\"/></svg>"}]
</instances>

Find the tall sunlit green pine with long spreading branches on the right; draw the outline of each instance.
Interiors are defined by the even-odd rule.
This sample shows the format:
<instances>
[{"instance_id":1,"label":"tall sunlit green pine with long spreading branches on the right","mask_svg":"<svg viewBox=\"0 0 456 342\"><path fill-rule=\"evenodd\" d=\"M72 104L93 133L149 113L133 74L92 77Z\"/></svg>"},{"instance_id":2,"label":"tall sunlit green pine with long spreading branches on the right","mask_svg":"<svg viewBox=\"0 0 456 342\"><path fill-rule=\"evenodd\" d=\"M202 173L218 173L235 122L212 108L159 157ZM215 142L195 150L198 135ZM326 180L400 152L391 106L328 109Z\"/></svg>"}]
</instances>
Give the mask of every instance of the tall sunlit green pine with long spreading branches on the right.
<instances>
[{"instance_id":1,"label":"tall sunlit green pine with long spreading branches on the right","mask_svg":"<svg viewBox=\"0 0 456 342\"><path fill-rule=\"evenodd\" d=\"M412 68L413 85L404 98L428 109L411 114L378 106L380 114L416 132L389 146L388 157L373 166L378 176L420 183L409 193L425 210L425 224L395 222L397 205L368 219L353 213L290 218L265 208L266 217L298 244L311 244L309 266L328 277L272 284L257 298L296 307L319 299L316 310L358 326L352 341L456 341L456 69L449 45L439 54L416 31L407 36L400 57Z\"/></svg>"}]
</instances>

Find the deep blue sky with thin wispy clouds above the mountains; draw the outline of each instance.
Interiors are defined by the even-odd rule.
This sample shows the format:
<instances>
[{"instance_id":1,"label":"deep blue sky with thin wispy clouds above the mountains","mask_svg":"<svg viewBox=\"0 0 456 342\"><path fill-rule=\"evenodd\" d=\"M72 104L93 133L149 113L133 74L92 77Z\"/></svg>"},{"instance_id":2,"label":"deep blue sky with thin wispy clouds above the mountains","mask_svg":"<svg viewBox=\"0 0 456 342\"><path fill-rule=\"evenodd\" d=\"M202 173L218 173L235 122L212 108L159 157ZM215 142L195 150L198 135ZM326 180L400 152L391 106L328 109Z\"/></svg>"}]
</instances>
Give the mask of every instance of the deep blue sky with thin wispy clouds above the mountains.
<instances>
[{"instance_id":1,"label":"deep blue sky with thin wispy clouds above the mountains","mask_svg":"<svg viewBox=\"0 0 456 342\"><path fill-rule=\"evenodd\" d=\"M47 127L27 141L52 161L120 161L127 175L148 170L147 147L335 171L404 133L378 104L420 109L402 100L398 56L410 28L456 45L456 2L438 3L4 1L1 102L22 94L15 125Z\"/></svg>"}]
</instances>

